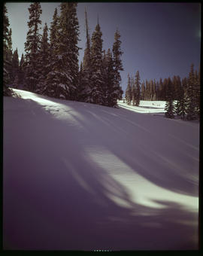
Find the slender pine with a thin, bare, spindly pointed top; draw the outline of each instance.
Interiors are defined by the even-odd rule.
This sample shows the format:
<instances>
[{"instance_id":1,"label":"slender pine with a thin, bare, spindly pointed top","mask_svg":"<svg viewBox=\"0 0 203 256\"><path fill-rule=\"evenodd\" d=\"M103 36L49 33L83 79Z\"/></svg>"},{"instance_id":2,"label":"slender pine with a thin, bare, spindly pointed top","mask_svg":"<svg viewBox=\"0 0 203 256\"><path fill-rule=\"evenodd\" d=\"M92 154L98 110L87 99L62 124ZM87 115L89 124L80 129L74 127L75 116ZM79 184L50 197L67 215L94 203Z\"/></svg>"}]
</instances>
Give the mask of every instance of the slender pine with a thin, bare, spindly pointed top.
<instances>
[{"instance_id":1,"label":"slender pine with a thin, bare, spindly pointed top","mask_svg":"<svg viewBox=\"0 0 203 256\"><path fill-rule=\"evenodd\" d=\"M92 102L92 81L91 81L91 43L89 38L89 27L85 9L86 25L86 49L83 56L83 69L80 69L80 84L78 86L78 100L82 102ZM82 74L81 74L82 72Z\"/></svg>"}]
</instances>

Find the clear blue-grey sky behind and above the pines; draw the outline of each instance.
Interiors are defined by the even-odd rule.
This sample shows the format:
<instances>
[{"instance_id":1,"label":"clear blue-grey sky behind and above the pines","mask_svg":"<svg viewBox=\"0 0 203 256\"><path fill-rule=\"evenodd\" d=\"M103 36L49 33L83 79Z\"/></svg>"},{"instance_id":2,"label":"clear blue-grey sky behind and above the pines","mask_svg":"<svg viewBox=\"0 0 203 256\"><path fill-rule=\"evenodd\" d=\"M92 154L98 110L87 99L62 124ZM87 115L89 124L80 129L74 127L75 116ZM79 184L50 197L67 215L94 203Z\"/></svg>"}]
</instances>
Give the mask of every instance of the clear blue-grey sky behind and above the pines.
<instances>
[{"instance_id":1,"label":"clear blue-grey sky behind and above the pines","mask_svg":"<svg viewBox=\"0 0 203 256\"><path fill-rule=\"evenodd\" d=\"M24 52L30 3L6 4L12 29L13 50L19 56ZM53 19L59 2L41 3L42 27ZM199 3L156 2L95 2L78 3L77 17L80 25L80 59L85 48L84 8L86 7L90 35L95 29L97 17L102 29L103 49L112 49L114 32L119 29L123 50L122 87L126 90L127 75L139 70L141 81L188 75L193 62L200 64L201 5Z\"/></svg>"}]
</instances>

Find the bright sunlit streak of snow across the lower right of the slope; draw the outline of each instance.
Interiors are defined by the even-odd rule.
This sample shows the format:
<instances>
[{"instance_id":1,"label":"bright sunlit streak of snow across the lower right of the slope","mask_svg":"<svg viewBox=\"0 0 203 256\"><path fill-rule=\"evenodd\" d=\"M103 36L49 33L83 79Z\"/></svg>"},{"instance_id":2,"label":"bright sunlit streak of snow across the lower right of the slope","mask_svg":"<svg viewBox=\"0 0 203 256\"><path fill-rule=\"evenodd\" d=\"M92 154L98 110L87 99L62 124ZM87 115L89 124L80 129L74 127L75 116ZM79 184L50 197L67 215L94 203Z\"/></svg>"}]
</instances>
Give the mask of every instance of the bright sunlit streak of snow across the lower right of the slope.
<instances>
[{"instance_id":1,"label":"bright sunlit streak of snow across the lower right of the slope","mask_svg":"<svg viewBox=\"0 0 203 256\"><path fill-rule=\"evenodd\" d=\"M172 203L178 203L185 209L190 211L198 211L198 197L190 197L183 194L178 194L159 187L156 184L148 181L146 178L138 175L135 169L132 169L126 163L121 161L116 155L112 154L105 148L86 148L86 154L92 159L98 166L105 169L107 176L111 175L114 180L119 182L121 186L125 188L131 202L138 203L143 206L153 207L156 209L162 209L166 206L156 203L156 201L167 201ZM104 181L104 185L108 186L108 190L112 193L108 194L111 200L115 203L132 207L127 200L123 200L119 195L116 196L114 188L109 187L108 182Z\"/></svg>"}]
</instances>

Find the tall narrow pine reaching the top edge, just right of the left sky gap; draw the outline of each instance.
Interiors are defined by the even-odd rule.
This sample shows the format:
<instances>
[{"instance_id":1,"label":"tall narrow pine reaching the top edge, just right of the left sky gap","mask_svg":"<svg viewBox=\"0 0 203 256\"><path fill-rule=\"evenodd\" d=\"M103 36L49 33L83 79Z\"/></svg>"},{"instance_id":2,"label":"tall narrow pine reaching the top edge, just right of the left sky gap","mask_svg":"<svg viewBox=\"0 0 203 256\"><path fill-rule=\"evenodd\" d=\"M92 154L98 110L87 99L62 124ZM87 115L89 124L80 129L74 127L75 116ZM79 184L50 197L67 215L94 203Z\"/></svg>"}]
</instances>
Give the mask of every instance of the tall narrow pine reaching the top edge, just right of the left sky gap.
<instances>
[{"instance_id":1,"label":"tall narrow pine reaching the top edge, just right of the left sky gap","mask_svg":"<svg viewBox=\"0 0 203 256\"><path fill-rule=\"evenodd\" d=\"M38 90L38 82L41 74L39 66L39 46L41 35L39 26L41 24L41 5L39 2L34 2L29 7L29 31L27 32L25 52L26 52L26 81L25 87L27 90L36 92Z\"/></svg>"}]
</instances>

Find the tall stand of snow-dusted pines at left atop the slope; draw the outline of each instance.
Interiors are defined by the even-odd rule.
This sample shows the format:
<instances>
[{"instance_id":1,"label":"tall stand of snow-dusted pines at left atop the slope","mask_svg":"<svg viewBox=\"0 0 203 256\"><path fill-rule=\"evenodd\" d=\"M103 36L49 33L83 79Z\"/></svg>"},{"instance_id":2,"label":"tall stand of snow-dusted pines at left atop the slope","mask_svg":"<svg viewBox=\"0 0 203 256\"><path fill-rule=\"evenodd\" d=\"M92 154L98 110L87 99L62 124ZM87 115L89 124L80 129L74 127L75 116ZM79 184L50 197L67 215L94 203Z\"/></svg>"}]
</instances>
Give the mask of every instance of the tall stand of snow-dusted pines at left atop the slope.
<instances>
[{"instance_id":1,"label":"tall stand of snow-dusted pines at left atop the slope","mask_svg":"<svg viewBox=\"0 0 203 256\"><path fill-rule=\"evenodd\" d=\"M62 2L60 14L56 8L50 29L45 23L42 35L41 13L39 2L30 5L25 56L22 54L19 62L17 49L14 53L12 50L12 31L4 5L4 95L11 95L10 87L15 87L59 99L116 107L123 94L120 32L114 34L112 50L102 50L101 27L97 23L90 38L85 11L86 48L79 69L77 3Z\"/></svg>"}]
</instances>

